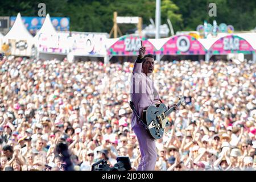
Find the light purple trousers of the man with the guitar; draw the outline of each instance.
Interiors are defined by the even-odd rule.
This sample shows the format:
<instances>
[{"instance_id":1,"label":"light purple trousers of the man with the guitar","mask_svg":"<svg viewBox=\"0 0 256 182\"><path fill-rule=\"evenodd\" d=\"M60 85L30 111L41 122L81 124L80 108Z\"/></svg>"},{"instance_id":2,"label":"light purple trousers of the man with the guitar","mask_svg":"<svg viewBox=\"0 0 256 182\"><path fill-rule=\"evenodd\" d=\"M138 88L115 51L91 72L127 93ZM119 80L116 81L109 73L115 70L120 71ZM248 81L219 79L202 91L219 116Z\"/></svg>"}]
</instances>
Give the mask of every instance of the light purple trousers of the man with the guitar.
<instances>
[{"instance_id":1,"label":"light purple trousers of the man with the guitar","mask_svg":"<svg viewBox=\"0 0 256 182\"><path fill-rule=\"evenodd\" d=\"M155 146L155 140L153 140L144 129L142 125L136 125L133 127L133 131L139 141L139 150L141 150L141 162L139 163L137 171L154 171L155 163L158 158Z\"/></svg>"}]
</instances>

